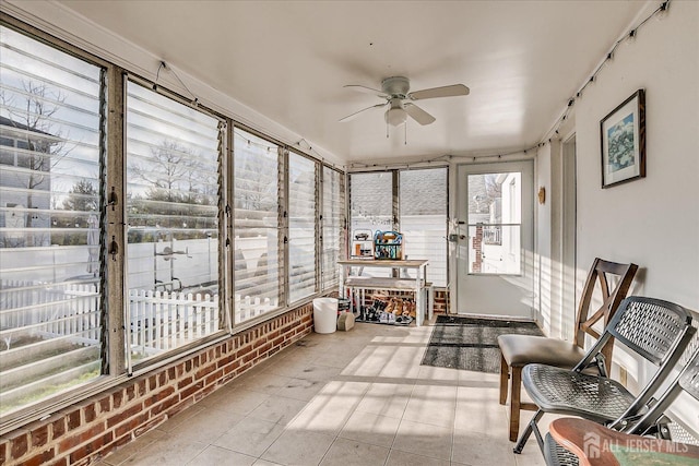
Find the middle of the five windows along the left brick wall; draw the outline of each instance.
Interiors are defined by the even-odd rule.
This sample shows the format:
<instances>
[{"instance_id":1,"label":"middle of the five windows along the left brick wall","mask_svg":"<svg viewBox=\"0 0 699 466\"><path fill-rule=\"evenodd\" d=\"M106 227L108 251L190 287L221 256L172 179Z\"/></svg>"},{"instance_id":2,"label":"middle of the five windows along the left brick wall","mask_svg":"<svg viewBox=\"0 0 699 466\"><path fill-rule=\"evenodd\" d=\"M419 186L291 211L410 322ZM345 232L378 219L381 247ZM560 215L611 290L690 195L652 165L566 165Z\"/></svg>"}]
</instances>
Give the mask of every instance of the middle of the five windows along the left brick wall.
<instances>
[{"instance_id":1,"label":"middle of the five windows along the left brick wall","mask_svg":"<svg viewBox=\"0 0 699 466\"><path fill-rule=\"evenodd\" d=\"M235 320L280 307L280 147L234 130Z\"/></svg>"}]
</instances>

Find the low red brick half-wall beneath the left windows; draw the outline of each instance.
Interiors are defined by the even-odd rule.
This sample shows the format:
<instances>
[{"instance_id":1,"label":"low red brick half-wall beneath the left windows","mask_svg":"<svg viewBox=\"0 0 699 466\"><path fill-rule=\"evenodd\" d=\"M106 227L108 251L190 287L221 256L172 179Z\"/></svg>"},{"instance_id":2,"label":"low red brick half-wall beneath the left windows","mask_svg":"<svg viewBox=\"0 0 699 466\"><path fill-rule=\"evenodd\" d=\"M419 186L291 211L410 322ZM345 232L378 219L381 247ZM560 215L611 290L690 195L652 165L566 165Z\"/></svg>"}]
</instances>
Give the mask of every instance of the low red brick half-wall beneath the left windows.
<instances>
[{"instance_id":1,"label":"low red brick half-wall beneath the left windows","mask_svg":"<svg viewBox=\"0 0 699 466\"><path fill-rule=\"evenodd\" d=\"M309 334L312 303L133 378L0 439L0 465L87 465Z\"/></svg>"}]
</instances>

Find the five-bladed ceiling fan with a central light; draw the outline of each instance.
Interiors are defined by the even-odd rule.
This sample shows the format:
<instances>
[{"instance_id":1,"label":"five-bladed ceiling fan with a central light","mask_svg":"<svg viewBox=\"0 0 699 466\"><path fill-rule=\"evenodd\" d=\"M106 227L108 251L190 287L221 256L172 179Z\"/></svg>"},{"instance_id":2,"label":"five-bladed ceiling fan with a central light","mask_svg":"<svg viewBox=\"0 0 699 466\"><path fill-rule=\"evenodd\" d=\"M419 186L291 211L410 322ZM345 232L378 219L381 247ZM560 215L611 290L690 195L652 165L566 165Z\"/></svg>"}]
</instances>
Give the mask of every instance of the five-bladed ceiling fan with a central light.
<instances>
[{"instance_id":1,"label":"five-bladed ceiling fan with a central light","mask_svg":"<svg viewBox=\"0 0 699 466\"><path fill-rule=\"evenodd\" d=\"M387 77L381 82L381 91L371 87L363 86L359 84L348 84L344 87L351 88L365 94L374 94L378 97L384 98L382 104L372 105L371 107L363 108L359 111L355 111L352 115L347 115L340 121L350 121L356 118L359 113L369 110L371 108L387 107L384 119L388 124L399 127L405 121L407 117L417 121L419 124L429 124L435 121L435 117L416 106L412 100L425 100L427 98L437 97L454 97L460 95L469 95L469 87L463 84L452 84L450 86L433 87L429 89L408 92L411 88L411 82L404 76ZM407 100L407 101L405 101Z\"/></svg>"}]
</instances>

